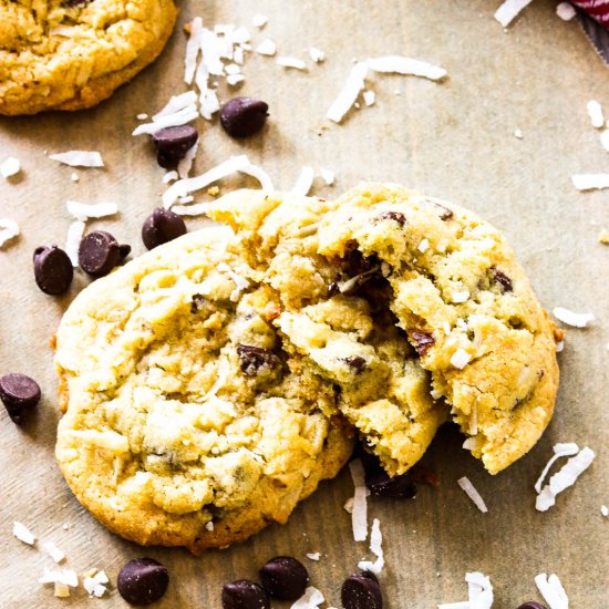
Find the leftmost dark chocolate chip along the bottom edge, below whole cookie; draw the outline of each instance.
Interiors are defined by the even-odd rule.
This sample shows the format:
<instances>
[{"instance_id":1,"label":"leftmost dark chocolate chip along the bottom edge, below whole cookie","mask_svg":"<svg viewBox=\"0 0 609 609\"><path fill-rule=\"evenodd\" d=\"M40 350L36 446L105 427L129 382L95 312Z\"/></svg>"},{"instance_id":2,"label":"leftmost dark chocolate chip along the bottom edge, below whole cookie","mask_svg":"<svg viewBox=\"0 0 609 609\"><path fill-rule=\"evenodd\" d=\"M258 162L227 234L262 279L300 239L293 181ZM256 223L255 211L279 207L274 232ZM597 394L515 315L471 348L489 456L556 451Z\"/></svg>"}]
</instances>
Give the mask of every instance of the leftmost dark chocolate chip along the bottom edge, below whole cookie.
<instances>
[{"instance_id":1,"label":"leftmost dark chocolate chip along the bottom edge, below whole cookie","mask_svg":"<svg viewBox=\"0 0 609 609\"><path fill-rule=\"evenodd\" d=\"M158 600L167 590L169 572L154 558L130 560L118 574L116 586L131 605L144 606Z\"/></svg>"}]
</instances>

